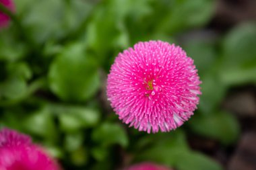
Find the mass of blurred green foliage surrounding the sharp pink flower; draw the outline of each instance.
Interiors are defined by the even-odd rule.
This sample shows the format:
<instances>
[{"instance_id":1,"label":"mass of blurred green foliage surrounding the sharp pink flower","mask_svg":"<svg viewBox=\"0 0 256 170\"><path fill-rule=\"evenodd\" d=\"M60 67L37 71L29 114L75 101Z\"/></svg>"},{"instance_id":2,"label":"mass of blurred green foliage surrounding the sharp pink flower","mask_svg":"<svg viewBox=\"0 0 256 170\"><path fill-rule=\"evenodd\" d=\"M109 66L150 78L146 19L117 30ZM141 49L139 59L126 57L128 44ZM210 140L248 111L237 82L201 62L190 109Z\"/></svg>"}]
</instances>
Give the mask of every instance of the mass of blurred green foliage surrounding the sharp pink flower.
<instances>
[{"instance_id":1,"label":"mass of blurred green foliage surrounding the sharp pink flower","mask_svg":"<svg viewBox=\"0 0 256 170\"><path fill-rule=\"evenodd\" d=\"M209 138L223 148L238 140L237 118L221 103L231 87L256 83L255 22L214 36L202 31L214 17L214 0L16 0L15 5L13 22L0 31L1 126L32 135L64 169L117 169L138 161L177 170L224 169L191 148L188 139ZM203 81L195 116L173 132L127 128L106 101L106 75L115 56L146 40L182 46Z\"/></svg>"}]
</instances>

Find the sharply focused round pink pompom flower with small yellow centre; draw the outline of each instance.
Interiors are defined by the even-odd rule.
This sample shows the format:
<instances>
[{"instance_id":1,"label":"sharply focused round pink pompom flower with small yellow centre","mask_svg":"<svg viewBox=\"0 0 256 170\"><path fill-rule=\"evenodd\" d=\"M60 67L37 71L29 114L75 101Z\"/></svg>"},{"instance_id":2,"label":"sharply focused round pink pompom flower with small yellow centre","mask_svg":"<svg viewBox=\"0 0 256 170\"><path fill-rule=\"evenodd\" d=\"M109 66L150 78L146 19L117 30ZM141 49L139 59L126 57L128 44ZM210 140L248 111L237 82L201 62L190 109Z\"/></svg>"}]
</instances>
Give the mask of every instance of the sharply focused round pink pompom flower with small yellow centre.
<instances>
[{"instance_id":1,"label":"sharply focused round pink pompom flower with small yellow centre","mask_svg":"<svg viewBox=\"0 0 256 170\"><path fill-rule=\"evenodd\" d=\"M106 93L126 124L139 131L168 132L193 115L201 94L193 59L168 42L139 42L119 53Z\"/></svg>"}]
</instances>

